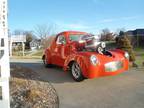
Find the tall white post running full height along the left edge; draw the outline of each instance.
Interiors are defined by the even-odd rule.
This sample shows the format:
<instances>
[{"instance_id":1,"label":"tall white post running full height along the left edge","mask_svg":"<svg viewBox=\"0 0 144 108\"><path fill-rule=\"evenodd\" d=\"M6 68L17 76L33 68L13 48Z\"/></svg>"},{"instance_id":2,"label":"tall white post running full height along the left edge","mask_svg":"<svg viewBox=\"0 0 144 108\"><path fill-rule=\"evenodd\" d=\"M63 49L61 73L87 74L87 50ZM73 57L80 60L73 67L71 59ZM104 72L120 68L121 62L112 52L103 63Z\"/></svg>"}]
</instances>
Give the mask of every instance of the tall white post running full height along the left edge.
<instances>
[{"instance_id":1,"label":"tall white post running full height along the left edge","mask_svg":"<svg viewBox=\"0 0 144 108\"><path fill-rule=\"evenodd\" d=\"M0 0L0 108L10 108L7 0Z\"/></svg>"}]
</instances>

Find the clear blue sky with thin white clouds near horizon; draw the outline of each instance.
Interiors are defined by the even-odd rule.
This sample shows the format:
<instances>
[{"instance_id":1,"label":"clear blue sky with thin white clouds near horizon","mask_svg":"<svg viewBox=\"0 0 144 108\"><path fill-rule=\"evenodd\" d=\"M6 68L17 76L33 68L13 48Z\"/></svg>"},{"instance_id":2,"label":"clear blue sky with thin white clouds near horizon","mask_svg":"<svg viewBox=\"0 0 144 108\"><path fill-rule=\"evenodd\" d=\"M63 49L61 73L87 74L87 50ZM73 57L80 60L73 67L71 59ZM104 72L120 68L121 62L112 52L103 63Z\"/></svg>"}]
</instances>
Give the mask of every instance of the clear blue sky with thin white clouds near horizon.
<instances>
[{"instance_id":1,"label":"clear blue sky with thin white clouds near horizon","mask_svg":"<svg viewBox=\"0 0 144 108\"><path fill-rule=\"evenodd\" d=\"M91 33L144 28L144 0L9 0L8 9L11 32L37 25Z\"/></svg>"}]
</instances>

